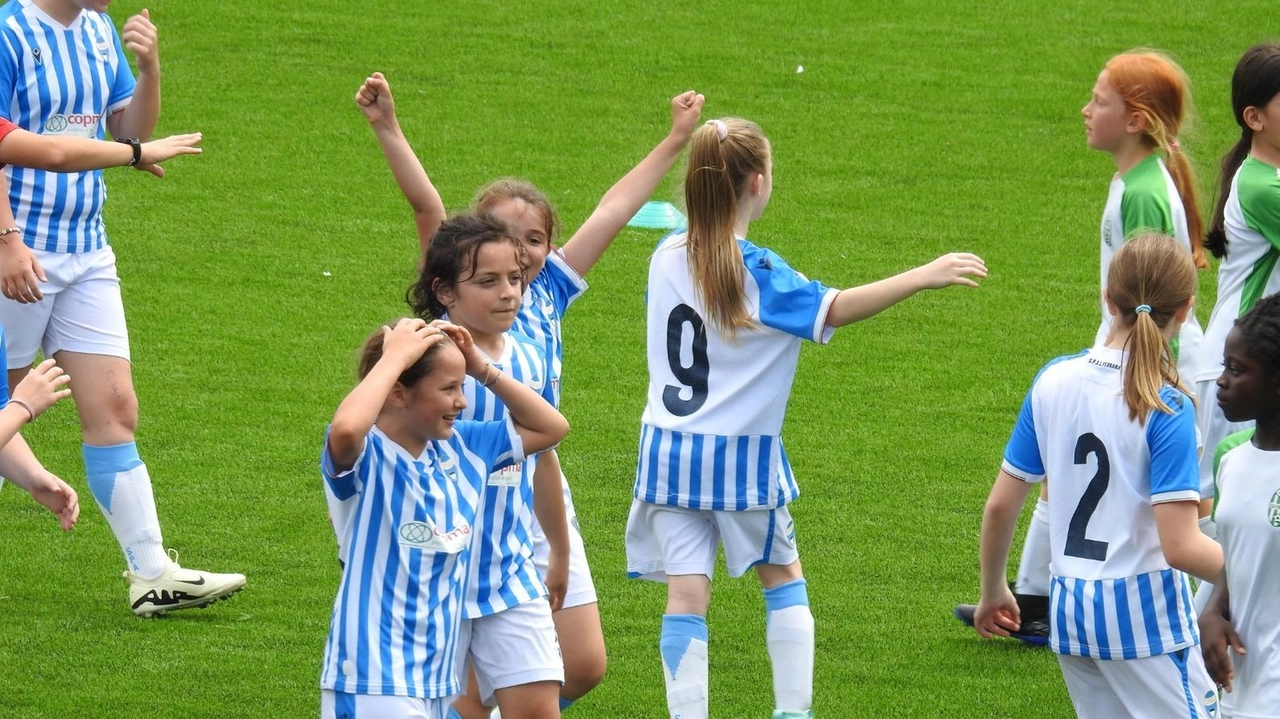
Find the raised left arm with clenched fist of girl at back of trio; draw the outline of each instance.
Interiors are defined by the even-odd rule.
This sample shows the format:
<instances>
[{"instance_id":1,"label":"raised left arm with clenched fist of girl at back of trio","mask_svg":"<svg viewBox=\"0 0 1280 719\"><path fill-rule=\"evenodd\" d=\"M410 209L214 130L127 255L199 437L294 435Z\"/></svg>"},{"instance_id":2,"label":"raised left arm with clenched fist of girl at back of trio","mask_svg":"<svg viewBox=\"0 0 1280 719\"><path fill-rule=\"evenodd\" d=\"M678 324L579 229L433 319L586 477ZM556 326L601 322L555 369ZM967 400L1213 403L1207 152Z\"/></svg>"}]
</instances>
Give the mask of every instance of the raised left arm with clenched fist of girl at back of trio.
<instances>
[{"instance_id":1,"label":"raised left arm with clenched fist of girl at back of trio","mask_svg":"<svg viewBox=\"0 0 1280 719\"><path fill-rule=\"evenodd\" d=\"M387 166L390 168L401 194L413 210L417 242L425 257L431 237L444 221L444 201L440 200L440 193L431 184L431 178L426 175L422 162L413 154L413 148L404 139L399 120L396 119L392 87L383 73L374 73L365 79L365 83L356 91L356 105L369 119L369 125L374 128L383 155L387 156Z\"/></svg>"}]
</instances>

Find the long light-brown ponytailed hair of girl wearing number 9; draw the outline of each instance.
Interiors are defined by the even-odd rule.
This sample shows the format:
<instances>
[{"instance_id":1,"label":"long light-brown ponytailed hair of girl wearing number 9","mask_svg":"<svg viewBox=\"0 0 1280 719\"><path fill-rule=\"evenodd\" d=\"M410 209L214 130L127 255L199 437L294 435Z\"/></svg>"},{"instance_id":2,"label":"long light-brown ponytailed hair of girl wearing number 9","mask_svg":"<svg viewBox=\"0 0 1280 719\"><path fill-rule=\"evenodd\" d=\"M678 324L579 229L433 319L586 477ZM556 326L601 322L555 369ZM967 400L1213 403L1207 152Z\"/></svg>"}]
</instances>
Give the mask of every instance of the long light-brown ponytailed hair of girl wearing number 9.
<instances>
[{"instance_id":1,"label":"long light-brown ponytailed hair of girl wearing number 9","mask_svg":"<svg viewBox=\"0 0 1280 719\"><path fill-rule=\"evenodd\" d=\"M746 310L742 249L733 237L737 200L768 161L769 141L759 125L740 118L708 122L689 146L689 269L708 321L731 338L755 325Z\"/></svg>"}]
</instances>

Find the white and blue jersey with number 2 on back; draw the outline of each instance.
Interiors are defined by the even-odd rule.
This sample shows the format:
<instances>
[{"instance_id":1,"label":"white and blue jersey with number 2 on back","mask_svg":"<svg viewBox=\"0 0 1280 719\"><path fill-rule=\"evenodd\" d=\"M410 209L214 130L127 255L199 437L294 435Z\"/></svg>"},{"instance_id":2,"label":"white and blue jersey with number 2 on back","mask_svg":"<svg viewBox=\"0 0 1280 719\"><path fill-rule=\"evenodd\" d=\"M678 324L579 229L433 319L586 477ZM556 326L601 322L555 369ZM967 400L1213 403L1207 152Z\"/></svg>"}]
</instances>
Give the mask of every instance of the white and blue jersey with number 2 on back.
<instances>
[{"instance_id":1,"label":"white and blue jersey with number 2 on back","mask_svg":"<svg viewBox=\"0 0 1280 719\"><path fill-rule=\"evenodd\" d=\"M1165 386L1172 413L1129 420L1117 349L1044 366L1023 402L1004 470L1050 477L1050 646L1138 659L1199 642L1190 583L1160 546L1152 505L1199 500L1196 409Z\"/></svg>"}]
</instances>

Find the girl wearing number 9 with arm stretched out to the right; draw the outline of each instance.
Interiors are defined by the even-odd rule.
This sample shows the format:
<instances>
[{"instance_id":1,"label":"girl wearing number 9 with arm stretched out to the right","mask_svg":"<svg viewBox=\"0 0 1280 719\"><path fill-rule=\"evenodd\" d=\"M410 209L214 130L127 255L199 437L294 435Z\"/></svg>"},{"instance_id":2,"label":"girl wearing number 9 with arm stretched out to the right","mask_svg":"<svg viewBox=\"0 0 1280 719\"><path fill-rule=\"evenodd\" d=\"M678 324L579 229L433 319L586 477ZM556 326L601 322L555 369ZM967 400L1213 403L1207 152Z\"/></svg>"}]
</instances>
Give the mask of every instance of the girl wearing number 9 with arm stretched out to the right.
<instances>
[{"instance_id":1,"label":"girl wearing number 9 with arm stretched out to the right","mask_svg":"<svg viewBox=\"0 0 1280 719\"><path fill-rule=\"evenodd\" d=\"M707 610L719 545L731 576L754 568L768 609L777 718L813 716L814 626L787 504L799 494L781 431L800 340L826 343L922 289L977 287L973 255L869 285L806 280L745 238L773 187L755 123L710 120L694 133L685 175L689 230L649 264L649 395L627 572L667 583L659 642L672 718L708 715Z\"/></svg>"}]
</instances>

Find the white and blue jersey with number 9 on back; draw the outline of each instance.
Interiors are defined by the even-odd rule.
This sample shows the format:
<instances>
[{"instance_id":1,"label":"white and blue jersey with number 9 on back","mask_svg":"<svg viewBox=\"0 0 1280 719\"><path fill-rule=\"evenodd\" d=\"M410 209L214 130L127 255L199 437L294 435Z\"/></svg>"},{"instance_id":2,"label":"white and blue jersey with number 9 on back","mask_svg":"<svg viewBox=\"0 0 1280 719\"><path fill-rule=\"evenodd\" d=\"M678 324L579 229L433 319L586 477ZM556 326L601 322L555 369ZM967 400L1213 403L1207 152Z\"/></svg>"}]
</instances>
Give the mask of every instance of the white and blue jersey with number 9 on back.
<instances>
[{"instance_id":1,"label":"white and blue jersey with number 9 on back","mask_svg":"<svg viewBox=\"0 0 1280 719\"><path fill-rule=\"evenodd\" d=\"M635 496L690 509L782 507L800 495L782 449L800 340L826 343L837 290L810 281L769 249L739 239L755 328L736 339L708 328L682 232L649 264L649 400Z\"/></svg>"}]
</instances>

